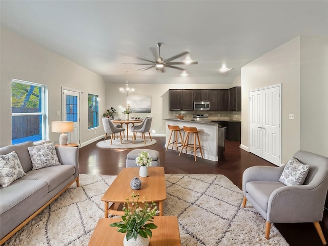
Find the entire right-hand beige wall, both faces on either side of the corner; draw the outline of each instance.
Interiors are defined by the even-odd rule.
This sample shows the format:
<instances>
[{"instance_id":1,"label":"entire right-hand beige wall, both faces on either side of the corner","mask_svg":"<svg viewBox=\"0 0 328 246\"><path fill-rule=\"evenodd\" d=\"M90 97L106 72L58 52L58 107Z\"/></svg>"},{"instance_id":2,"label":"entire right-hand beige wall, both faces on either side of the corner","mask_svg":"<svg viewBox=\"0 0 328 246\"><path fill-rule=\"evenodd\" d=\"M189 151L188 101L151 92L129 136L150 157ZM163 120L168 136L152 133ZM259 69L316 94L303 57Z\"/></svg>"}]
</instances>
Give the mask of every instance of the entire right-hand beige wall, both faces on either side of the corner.
<instances>
[{"instance_id":1,"label":"entire right-hand beige wall, both faces on either side of the corner","mask_svg":"<svg viewBox=\"0 0 328 246\"><path fill-rule=\"evenodd\" d=\"M298 36L242 67L243 149L249 147L249 91L282 84L282 163L300 149L328 156L327 50L327 38Z\"/></svg>"}]
</instances>

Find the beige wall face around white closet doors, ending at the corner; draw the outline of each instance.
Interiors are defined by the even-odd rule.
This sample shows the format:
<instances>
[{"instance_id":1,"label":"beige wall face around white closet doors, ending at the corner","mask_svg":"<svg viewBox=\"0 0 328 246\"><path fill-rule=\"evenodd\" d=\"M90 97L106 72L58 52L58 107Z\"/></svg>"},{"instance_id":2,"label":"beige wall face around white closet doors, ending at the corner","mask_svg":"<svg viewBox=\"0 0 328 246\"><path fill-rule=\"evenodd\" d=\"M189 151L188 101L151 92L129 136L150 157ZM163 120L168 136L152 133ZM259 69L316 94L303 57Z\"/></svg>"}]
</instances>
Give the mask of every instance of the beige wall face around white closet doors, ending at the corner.
<instances>
[{"instance_id":1,"label":"beige wall face around white closet doors, ending at the corner","mask_svg":"<svg viewBox=\"0 0 328 246\"><path fill-rule=\"evenodd\" d=\"M249 91L282 84L282 163L300 149L300 37L241 68L241 145L249 147ZM295 119L290 120L289 114Z\"/></svg>"}]
</instances>

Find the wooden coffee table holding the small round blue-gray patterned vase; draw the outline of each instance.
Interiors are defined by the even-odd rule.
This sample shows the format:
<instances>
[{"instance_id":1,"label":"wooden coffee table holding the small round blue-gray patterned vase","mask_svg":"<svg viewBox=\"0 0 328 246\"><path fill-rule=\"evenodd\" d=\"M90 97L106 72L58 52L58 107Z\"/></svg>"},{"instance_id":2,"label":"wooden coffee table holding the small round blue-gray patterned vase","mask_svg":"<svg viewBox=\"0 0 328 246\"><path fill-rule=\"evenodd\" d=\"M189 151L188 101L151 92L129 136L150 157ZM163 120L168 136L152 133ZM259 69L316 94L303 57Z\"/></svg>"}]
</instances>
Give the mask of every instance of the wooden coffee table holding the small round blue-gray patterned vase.
<instances>
[{"instance_id":1,"label":"wooden coffee table holding the small round blue-gray patterned vase","mask_svg":"<svg viewBox=\"0 0 328 246\"><path fill-rule=\"evenodd\" d=\"M138 177L141 180L141 188L132 190L130 181ZM108 214L123 215L123 211L118 211L120 203L124 203L129 198L132 201L132 192L139 194L139 201L146 196L149 202L158 202L159 215L163 215L163 201L166 199L165 173L163 167L149 167L148 177L139 177L139 168L124 168L115 178L108 188L101 201L105 202L105 218ZM113 204L108 207L109 202Z\"/></svg>"}]
</instances>

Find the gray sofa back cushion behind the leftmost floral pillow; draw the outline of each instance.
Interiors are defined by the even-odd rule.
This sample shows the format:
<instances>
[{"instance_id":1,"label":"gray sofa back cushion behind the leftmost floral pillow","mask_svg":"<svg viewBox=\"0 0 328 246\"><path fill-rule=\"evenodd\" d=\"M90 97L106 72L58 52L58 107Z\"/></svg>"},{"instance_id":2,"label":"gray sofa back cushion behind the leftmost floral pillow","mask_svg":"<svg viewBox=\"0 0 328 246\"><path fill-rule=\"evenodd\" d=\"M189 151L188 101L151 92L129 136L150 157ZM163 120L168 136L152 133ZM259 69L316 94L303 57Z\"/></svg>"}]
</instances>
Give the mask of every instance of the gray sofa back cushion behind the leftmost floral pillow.
<instances>
[{"instance_id":1,"label":"gray sofa back cushion behind the leftmost floral pillow","mask_svg":"<svg viewBox=\"0 0 328 246\"><path fill-rule=\"evenodd\" d=\"M20 161L20 164L22 164L23 170L26 173L32 170L32 161L30 158L29 151L27 149L27 147L30 146L33 146L33 142L31 141L23 142L22 144L2 147L0 148L0 155L6 155L9 154L10 152L15 151Z\"/></svg>"}]
</instances>

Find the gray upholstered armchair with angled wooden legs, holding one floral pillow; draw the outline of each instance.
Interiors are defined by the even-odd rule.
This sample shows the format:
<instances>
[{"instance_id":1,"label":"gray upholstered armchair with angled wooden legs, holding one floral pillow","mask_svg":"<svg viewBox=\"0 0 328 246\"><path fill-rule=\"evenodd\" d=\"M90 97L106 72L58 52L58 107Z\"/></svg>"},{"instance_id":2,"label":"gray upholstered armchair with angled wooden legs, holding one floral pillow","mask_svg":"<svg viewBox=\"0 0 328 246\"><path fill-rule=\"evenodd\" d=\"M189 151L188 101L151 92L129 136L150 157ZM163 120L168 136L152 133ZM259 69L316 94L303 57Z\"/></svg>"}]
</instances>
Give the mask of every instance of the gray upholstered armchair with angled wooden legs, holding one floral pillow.
<instances>
[{"instance_id":1,"label":"gray upholstered armchair with angled wooden legs, holding one floral pillow","mask_svg":"<svg viewBox=\"0 0 328 246\"><path fill-rule=\"evenodd\" d=\"M328 158L306 151L298 151L294 157L310 165L303 185L285 186L280 182L284 166L250 167L242 175L242 207L245 208L249 200L267 220L267 239L271 223L313 222L322 243L326 244L319 221L323 218L328 190Z\"/></svg>"}]
</instances>

